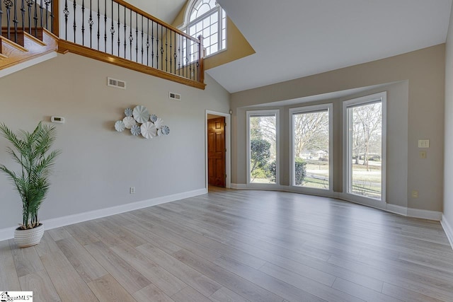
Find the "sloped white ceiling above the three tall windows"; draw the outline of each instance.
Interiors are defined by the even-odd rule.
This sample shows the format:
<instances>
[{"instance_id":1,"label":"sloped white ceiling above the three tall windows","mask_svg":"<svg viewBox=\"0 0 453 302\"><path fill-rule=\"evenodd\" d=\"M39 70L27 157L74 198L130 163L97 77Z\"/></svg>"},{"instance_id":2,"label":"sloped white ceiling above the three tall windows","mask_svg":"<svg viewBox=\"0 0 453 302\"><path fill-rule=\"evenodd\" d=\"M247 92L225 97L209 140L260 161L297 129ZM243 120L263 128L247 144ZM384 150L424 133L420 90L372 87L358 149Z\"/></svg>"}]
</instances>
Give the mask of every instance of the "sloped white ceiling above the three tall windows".
<instances>
[{"instance_id":1,"label":"sloped white ceiling above the three tall windows","mask_svg":"<svg viewBox=\"0 0 453 302\"><path fill-rule=\"evenodd\" d=\"M158 6L167 1L180 2L157 0ZM452 0L218 1L256 51L207 71L230 93L443 43L452 6Z\"/></svg>"}]
</instances>

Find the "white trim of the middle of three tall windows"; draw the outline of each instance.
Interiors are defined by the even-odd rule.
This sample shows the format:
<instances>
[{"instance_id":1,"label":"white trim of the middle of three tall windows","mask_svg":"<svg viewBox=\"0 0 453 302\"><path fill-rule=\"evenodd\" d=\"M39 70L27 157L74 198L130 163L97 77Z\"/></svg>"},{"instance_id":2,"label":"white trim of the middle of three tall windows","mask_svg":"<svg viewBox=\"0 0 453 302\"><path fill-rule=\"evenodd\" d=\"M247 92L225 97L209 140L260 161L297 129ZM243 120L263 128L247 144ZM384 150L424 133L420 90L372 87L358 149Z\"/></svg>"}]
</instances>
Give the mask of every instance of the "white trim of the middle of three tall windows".
<instances>
[{"instance_id":1,"label":"white trim of the middle of three tall windows","mask_svg":"<svg viewBox=\"0 0 453 302\"><path fill-rule=\"evenodd\" d=\"M304 187L295 184L294 175L296 173L294 167L294 113L309 113L321 110L328 112L328 189L319 189L316 187ZM333 192L333 104L321 104L313 106L305 106L289 109L289 187L292 189L301 190L303 192Z\"/></svg>"}]
</instances>

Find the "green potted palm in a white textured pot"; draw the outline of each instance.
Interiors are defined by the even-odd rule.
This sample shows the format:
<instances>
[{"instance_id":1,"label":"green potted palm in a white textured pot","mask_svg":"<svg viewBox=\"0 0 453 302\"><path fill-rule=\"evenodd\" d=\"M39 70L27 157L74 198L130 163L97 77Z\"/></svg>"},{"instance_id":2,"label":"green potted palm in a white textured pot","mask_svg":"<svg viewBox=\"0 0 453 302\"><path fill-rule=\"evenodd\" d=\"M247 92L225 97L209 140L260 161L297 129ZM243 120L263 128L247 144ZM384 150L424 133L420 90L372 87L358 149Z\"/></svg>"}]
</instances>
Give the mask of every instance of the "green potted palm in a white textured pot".
<instances>
[{"instance_id":1,"label":"green potted palm in a white textured pot","mask_svg":"<svg viewBox=\"0 0 453 302\"><path fill-rule=\"evenodd\" d=\"M50 151L57 131L54 126L40 122L33 132L19 130L17 134L6 124L0 124L0 133L12 144L6 151L20 165L18 172L5 165L0 165L0 170L8 175L21 196L22 223L14 232L14 240L19 247L26 248L40 243L44 234L38 210L49 190L55 159L61 153Z\"/></svg>"}]
</instances>

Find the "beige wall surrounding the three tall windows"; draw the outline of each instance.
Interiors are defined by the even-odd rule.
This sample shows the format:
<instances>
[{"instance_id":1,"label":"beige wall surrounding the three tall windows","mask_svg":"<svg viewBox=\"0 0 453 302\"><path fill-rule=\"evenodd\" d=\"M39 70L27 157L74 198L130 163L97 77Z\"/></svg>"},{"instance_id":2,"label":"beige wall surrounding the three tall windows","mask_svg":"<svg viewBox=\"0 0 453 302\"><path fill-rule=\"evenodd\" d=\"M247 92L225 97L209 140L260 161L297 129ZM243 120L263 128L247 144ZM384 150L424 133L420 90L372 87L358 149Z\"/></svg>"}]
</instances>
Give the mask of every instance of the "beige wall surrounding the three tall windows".
<instances>
[{"instance_id":1,"label":"beige wall surrounding the three tall windows","mask_svg":"<svg viewBox=\"0 0 453 302\"><path fill-rule=\"evenodd\" d=\"M390 134L387 146L389 171L386 185L390 190L387 192L387 202L415 209L442 211L444 81L445 45L437 45L375 62L234 93L231 95L231 109L234 112L232 119L234 172L231 182L246 183L244 125L247 106L253 105L253 110L257 109L256 105L269 108L268 103L282 100L401 82L382 88L389 92L387 111L387 133ZM367 94L371 92L368 91ZM342 190L343 173L340 170L343 166L342 140L339 134L340 102L341 99L333 100L337 133L333 156L336 192ZM284 117L281 118L282 130L285 131L282 139L288 141L286 134L288 127L285 125L289 124L287 108L280 109L282 109L280 117ZM430 139L428 158L424 160L418 156L418 139ZM289 146L282 144L282 141L280 146L281 184L287 185L289 180L285 179L285 175L289 175ZM402 172L398 172L398 169L402 169ZM412 190L418 190L418 199L411 197Z\"/></svg>"}]
</instances>

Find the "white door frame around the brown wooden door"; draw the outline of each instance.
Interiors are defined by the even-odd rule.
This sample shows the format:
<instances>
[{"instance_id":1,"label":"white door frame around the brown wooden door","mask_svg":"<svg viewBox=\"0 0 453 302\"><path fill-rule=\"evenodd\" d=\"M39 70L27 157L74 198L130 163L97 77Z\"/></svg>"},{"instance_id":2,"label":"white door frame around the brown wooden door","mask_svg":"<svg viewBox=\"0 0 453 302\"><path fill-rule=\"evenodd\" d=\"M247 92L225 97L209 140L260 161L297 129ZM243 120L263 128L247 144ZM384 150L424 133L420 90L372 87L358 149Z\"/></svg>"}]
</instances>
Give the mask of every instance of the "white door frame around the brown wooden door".
<instances>
[{"instance_id":1,"label":"white door frame around the brown wooden door","mask_svg":"<svg viewBox=\"0 0 453 302\"><path fill-rule=\"evenodd\" d=\"M226 183L225 187L231 188L231 115L229 113L217 112L212 110L206 110L205 113L205 170L206 170L206 190L209 187L208 170L207 170L207 115L219 115L225 117L225 173Z\"/></svg>"}]
</instances>

